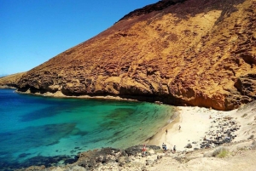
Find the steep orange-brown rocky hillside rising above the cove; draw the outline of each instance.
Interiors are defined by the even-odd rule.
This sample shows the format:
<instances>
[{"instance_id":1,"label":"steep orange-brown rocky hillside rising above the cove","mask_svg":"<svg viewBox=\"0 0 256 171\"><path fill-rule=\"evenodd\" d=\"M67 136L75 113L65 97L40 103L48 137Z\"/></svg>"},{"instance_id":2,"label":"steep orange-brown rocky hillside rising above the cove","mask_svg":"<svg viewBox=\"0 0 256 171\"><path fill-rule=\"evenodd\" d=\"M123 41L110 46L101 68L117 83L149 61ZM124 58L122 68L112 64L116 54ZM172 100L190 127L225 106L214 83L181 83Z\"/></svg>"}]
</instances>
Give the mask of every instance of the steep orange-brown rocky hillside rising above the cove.
<instances>
[{"instance_id":1,"label":"steep orange-brown rocky hillside rising above the cove","mask_svg":"<svg viewBox=\"0 0 256 171\"><path fill-rule=\"evenodd\" d=\"M24 74L19 91L231 110L256 99L255 0L166 0Z\"/></svg>"}]
</instances>

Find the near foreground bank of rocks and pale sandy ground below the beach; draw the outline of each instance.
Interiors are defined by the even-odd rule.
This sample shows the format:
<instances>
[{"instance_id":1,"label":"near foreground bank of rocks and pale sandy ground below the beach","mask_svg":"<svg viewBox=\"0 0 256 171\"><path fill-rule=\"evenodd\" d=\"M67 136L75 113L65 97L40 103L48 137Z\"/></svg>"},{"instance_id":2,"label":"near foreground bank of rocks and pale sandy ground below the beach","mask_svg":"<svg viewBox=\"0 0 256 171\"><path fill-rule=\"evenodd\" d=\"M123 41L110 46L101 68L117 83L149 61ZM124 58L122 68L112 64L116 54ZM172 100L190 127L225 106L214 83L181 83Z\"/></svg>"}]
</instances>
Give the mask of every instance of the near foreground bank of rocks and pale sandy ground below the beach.
<instances>
[{"instance_id":1,"label":"near foreground bank of rocks and pale sandy ground below the beach","mask_svg":"<svg viewBox=\"0 0 256 171\"><path fill-rule=\"evenodd\" d=\"M160 147L159 147L160 148ZM246 140L239 143L225 144L215 149L198 151L167 150L163 153L157 148L148 148L146 155L142 155L139 146L133 147L132 154L126 151L106 148L98 151L88 151L79 155L78 162L60 167L31 166L17 169L17 171L169 171L169 170L249 170L256 167L256 141ZM227 151L225 157L219 157L218 151ZM129 150L129 149L127 149ZM90 155L90 156L89 156ZM126 156L125 156L126 155Z\"/></svg>"}]
</instances>

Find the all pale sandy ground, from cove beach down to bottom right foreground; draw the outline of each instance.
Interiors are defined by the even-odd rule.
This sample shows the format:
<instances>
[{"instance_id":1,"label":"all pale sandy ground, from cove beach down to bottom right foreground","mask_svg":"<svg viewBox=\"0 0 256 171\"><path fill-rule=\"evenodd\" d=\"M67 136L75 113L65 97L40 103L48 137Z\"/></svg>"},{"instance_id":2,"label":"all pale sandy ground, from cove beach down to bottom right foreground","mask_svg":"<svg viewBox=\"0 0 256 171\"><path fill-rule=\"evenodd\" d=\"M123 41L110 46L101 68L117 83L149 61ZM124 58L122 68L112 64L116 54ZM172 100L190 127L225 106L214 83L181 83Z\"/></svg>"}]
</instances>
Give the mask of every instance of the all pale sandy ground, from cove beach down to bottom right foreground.
<instances>
[{"instance_id":1,"label":"all pale sandy ground, from cove beach down to bottom right foreground","mask_svg":"<svg viewBox=\"0 0 256 171\"><path fill-rule=\"evenodd\" d=\"M256 102L233 111L215 111L201 107L177 109L177 117L146 142L147 145L159 146L165 143L168 150L164 153L148 149L148 157L131 157L131 162L121 170L255 170L256 151L253 149L256 143L253 136L256 133ZM204 140L205 136L207 140ZM224 140L228 136L231 140L226 143ZM216 140L217 137L220 139ZM212 146L201 149L204 142L218 141L221 144L210 143ZM188 144L192 147L185 148ZM172 152L173 145L177 146L175 153ZM227 157L213 157L213 152L219 148L229 151ZM98 170L120 168L112 164Z\"/></svg>"}]
</instances>

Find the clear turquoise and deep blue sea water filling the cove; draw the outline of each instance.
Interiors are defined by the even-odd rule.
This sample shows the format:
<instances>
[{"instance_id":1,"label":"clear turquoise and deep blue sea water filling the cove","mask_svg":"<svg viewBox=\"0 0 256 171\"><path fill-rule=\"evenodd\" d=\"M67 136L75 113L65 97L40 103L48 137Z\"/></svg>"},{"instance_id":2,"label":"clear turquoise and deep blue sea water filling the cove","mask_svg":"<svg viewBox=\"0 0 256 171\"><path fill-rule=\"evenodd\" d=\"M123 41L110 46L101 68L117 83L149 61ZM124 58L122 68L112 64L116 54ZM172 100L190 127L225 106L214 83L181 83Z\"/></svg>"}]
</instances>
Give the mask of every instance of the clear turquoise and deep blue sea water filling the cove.
<instances>
[{"instance_id":1,"label":"clear turquoise and deep blue sea water filling the cove","mask_svg":"<svg viewBox=\"0 0 256 171\"><path fill-rule=\"evenodd\" d=\"M172 117L171 106L56 99L0 89L0 167L32 157L74 157L142 144Z\"/></svg>"}]
</instances>

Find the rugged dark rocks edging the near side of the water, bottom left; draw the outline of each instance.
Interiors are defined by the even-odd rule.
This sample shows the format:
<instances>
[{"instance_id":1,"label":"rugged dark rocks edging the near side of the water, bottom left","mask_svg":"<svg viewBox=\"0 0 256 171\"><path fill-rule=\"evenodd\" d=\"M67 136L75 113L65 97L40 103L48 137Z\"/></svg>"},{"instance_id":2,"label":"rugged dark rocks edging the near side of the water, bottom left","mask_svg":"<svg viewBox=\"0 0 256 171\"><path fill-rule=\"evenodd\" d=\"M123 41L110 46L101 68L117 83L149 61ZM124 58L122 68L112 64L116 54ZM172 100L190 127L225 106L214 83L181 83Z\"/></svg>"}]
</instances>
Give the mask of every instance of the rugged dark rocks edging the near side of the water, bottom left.
<instances>
[{"instance_id":1,"label":"rugged dark rocks edging the near side of the water, bottom left","mask_svg":"<svg viewBox=\"0 0 256 171\"><path fill-rule=\"evenodd\" d=\"M26 166L26 163L20 163L16 168L17 171L30 170L55 170L56 163L63 162L61 168L65 170L104 170L104 167L118 166L120 169L127 167L131 162L137 168L143 168L145 165L153 165L157 160L160 160L162 153L159 146L148 145L145 154L142 152L143 145L136 145L125 150L115 148L102 148L92 151L84 151L79 153L75 158L68 157L35 157L29 160L35 166ZM160 153L159 153L160 152ZM41 158L41 161L38 161ZM144 160L141 160L144 158ZM2 167L3 170L9 170L7 166ZM19 169L17 169L19 168ZM61 169L60 168L60 169ZM77 168L77 169L76 169ZM134 169L132 169L134 170Z\"/></svg>"}]
</instances>

